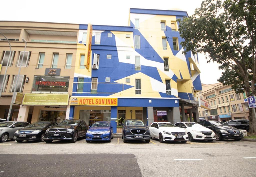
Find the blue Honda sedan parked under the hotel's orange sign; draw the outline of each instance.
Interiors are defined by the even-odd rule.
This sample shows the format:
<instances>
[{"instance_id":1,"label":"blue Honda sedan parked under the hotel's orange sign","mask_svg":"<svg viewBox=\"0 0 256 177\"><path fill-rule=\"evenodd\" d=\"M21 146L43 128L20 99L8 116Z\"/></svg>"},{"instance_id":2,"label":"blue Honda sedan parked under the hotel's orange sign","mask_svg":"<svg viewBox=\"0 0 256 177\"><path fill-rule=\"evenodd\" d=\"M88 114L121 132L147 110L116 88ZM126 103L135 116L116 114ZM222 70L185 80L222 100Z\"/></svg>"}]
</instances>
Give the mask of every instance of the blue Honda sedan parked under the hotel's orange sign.
<instances>
[{"instance_id":1,"label":"blue Honda sedan parked under the hotel's orange sign","mask_svg":"<svg viewBox=\"0 0 256 177\"><path fill-rule=\"evenodd\" d=\"M93 123L86 133L86 142L108 141L113 139L113 127L109 122L99 121Z\"/></svg>"}]
</instances>

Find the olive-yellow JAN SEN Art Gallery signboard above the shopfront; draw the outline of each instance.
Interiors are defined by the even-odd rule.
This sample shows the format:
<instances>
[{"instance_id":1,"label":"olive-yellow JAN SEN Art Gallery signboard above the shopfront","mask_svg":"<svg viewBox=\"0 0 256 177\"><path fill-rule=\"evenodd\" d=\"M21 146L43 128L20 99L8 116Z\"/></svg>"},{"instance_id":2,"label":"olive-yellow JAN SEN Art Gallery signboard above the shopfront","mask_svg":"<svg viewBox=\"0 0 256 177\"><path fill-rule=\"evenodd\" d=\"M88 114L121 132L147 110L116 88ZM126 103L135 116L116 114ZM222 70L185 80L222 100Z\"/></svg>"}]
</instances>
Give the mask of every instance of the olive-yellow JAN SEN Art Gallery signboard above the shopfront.
<instances>
[{"instance_id":1,"label":"olive-yellow JAN SEN Art Gallery signboard above the shopfront","mask_svg":"<svg viewBox=\"0 0 256 177\"><path fill-rule=\"evenodd\" d=\"M69 94L25 93L23 105L68 105Z\"/></svg>"}]
</instances>

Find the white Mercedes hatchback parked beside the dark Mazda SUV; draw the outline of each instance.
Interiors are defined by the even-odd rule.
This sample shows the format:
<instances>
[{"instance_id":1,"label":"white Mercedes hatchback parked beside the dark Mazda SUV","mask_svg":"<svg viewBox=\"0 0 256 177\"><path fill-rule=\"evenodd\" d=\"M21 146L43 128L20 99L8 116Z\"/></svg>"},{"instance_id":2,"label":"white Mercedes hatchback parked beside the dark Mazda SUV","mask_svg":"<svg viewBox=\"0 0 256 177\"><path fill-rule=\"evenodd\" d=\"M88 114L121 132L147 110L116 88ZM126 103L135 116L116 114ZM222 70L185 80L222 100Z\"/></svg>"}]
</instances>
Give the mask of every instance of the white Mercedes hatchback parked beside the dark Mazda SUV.
<instances>
[{"instance_id":1,"label":"white Mercedes hatchback parked beside the dark Mazda SUV","mask_svg":"<svg viewBox=\"0 0 256 177\"><path fill-rule=\"evenodd\" d=\"M153 122L150 129L151 137L159 139L161 143L165 141L187 142L188 135L185 128L177 127L170 122Z\"/></svg>"}]
</instances>

